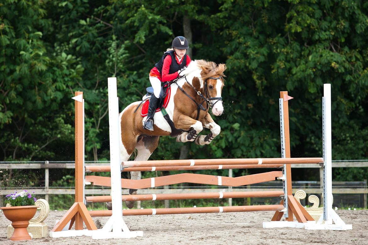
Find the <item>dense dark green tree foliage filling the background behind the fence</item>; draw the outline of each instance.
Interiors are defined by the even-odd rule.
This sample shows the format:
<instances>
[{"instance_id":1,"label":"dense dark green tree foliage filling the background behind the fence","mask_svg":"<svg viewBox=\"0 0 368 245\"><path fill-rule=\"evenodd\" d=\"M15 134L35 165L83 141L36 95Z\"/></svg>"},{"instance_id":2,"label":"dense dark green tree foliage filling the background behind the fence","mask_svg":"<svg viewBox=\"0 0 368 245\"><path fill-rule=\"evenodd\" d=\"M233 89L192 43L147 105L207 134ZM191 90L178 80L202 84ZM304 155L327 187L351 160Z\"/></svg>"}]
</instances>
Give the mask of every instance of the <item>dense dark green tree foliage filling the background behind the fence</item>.
<instances>
[{"instance_id":1,"label":"dense dark green tree foliage filling the background behind the fence","mask_svg":"<svg viewBox=\"0 0 368 245\"><path fill-rule=\"evenodd\" d=\"M191 158L280 156L282 90L295 97L291 156L321 156L323 83L332 84L333 159L367 158L367 9L361 0L5 0L0 158L73 159L70 97L83 91L86 160L108 159L106 78L118 79L121 109L140 100L149 70L184 35L184 17L191 58L227 65L222 133L207 146L189 143ZM178 158L180 147L162 137L152 159ZM346 180L354 176L367 173Z\"/></svg>"}]
</instances>

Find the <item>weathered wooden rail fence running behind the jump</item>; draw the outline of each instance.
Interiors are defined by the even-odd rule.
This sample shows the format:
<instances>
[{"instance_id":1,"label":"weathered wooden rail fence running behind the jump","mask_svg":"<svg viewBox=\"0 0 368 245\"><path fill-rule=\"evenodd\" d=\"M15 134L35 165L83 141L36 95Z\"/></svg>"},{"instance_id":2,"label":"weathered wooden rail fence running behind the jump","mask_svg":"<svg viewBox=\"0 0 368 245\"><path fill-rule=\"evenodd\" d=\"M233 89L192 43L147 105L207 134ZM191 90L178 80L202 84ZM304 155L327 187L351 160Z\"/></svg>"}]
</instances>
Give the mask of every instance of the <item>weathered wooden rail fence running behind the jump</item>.
<instances>
[{"instance_id":1,"label":"weathered wooden rail fence running behind the jump","mask_svg":"<svg viewBox=\"0 0 368 245\"><path fill-rule=\"evenodd\" d=\"M87 166L101 166L107 165L110 166L109 161L85 161ZM315 183L322 183L322 167L317 164L294 164L291 165L292 168L319 168L320 180L314 181ZM335 160L332 161L332 167L368 167L368 160ZM0 162L0 170L3 169L45 169L45 187L22 187L32 191L35 191L37 195L45 195L45 199L49 198L49 195L63 195L69 194L74 195L75 190L73 187L68 188L60 188L60 187L50 187L49 186L49 169L74 169L75 162L74 161L32 161L32 162ZM232 176L232 171L229 169L229 176ZM303 181L293 181L293 184L301 184ZM312 183L313 181L304 181L305 183ZM367 208L367 194L368 188L367 184L359 185L359 187L351 187L348 186L346 188L340 187L344 185L345 182L333 181L334 186L339 186L338 188L334 187L332 189L333 194L363 194L364 195L364 208ZM367 180L365 180L367 183ZM206 192L206 191L269 191L272 188L279 188L279 186L268 186L267 188L156 188L156 189L146 189L146 194L168 194L168 193L192 193L192 192ZM230 189L230 190L229 190ZM0 195L7 195L10 192L15 192L19 189L16 188L1 188ZM297 191L298 188L293 188L293 194ZM303 190L307 194L322 194L322 185L320 188L317 187L308 187L306 185ZM86 188L86 195L109 195L111 192L110 188ZM231 199L229 198L229 204L231 205Z\"/></svg>"}]
</instances>

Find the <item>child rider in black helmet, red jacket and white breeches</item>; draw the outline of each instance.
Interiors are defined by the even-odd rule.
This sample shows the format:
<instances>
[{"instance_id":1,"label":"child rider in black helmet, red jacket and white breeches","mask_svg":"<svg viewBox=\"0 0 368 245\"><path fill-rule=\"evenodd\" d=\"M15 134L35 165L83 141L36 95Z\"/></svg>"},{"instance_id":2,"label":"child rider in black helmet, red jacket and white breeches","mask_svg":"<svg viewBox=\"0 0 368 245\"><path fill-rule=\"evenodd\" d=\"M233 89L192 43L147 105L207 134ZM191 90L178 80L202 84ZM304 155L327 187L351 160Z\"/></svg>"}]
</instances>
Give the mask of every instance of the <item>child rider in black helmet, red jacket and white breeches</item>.
<instances>
[{"instance_id":1,"label":"child rider in black helmet, red jacket and white breeches","mask_svg":"<svg viewBox=\"0 0 368 245\"><path fill-rule=\"evenodd\" d=\"M177 78L178 71L191 62L189 55L185 54L189 48L188 40L183 36L175 37L172 44L161 60L155 64L149 73L149 81L153 87L153 94L149 99L147 119L144 129L153 130L153 115L160 97L161 82L172 81Z\"/></svg>"}]
</instances>

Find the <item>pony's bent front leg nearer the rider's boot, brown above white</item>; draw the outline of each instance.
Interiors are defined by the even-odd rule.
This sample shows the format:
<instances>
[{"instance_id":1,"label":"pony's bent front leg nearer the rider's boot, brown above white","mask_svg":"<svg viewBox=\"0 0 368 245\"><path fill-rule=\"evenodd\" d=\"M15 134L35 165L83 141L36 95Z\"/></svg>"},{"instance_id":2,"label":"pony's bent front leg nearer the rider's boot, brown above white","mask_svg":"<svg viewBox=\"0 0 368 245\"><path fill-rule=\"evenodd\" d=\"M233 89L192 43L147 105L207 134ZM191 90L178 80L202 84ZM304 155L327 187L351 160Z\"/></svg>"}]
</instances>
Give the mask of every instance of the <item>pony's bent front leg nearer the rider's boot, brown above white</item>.
<instances>
[{"instance_id":1,"label":"pony's bent front leg nearer the rider's boot, brown above white","mask_svg":"<svg viewBox=\"0 0 368 245\"><path fill-rule=\"evenodd\" d=\"M189 116L180 115L178 116L177 120L174 120L174 125L177 129L190 129L189 133L184 132L180 134L177 138L177 142L188 142L188 141L194 141L195 137L197 137L198 133L203 130L202 123L190 118Z\"/></svg>"}]
</instances>

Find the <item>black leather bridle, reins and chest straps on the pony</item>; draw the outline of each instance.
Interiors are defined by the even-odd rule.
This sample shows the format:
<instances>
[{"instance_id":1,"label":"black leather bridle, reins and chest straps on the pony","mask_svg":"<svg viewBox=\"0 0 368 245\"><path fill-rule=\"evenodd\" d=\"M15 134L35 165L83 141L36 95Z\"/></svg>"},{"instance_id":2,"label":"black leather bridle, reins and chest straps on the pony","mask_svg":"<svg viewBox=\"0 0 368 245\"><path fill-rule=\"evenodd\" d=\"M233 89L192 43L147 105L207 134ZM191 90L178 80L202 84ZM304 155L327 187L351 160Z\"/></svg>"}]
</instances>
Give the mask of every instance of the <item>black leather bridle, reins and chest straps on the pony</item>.
<instances>
[{"instance_id":1,"label":"black leather bridle, reins and chest straps on the pony","mask_svg":"<svg viewBox=\"0 0 368 245\"><path fill-rule=\"evenodd\" d=\"M185 81L192 87L192 89L194 89L194 91L201 97L201 101L198 103L194 98L192 98L189 94L187 94L187 92L184 91L183 88L181 88L179 86L179 84L177 84L177 80L180 79L180 78L183 78L185 79ZM210 97L209 95L209 92L208 92L208 89L207 89L207 80L208 79L215 79L215 80L218 80L218 79L221 79L222 76L219 76L218 78L207 78L205 80L205 84L204 84L204 93L202 94L201 91L198 91L197 89L195 89L195 87L193 87L192 84L190 84L190 82L188 82L187 80L187 76L180 76L180 74L178 75L178 77L173 80L172 83L175 83L176 86L178 86L178 88L188 97L190 98L196 105L197 105L197 117L195 120L198 120L199 118L199 112L202 110L202 111L206 111L209 108L212 108L217 102L219 101L222 101L222 97ZM215 103L211 104L211 100L217 100ZM203 106L203 103L206 102L206 108L204 108Z\"/></svg>"}]
</instances>

